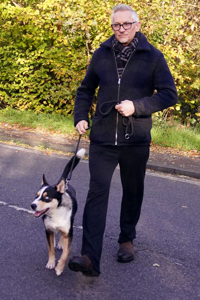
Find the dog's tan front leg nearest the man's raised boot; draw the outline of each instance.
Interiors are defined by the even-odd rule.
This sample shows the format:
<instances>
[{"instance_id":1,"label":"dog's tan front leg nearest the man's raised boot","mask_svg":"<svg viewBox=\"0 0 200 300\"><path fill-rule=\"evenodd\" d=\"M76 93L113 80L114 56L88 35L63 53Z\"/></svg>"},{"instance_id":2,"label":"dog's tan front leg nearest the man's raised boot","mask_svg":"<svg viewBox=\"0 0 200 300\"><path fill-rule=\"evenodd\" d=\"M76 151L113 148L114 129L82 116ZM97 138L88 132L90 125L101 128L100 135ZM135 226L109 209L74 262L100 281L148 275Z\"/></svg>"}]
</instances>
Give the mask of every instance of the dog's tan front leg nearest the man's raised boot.
<instances>
[{"instance_id":1,"label":"dog's tan front leg nearest the man's raised boot","mask_svg":"<svg viewBox=\"0 0 200 300\"><path fill-rule=\"evenodd\" d=\"M60 259L58 260L58 264L55 269L57 276L59 276L63 272L63 269L65 267L65 263L68 259L69 249L72 243L72 236L62 233L62 242L63 242L63 253Z\"/></svg>"}]
</instances>

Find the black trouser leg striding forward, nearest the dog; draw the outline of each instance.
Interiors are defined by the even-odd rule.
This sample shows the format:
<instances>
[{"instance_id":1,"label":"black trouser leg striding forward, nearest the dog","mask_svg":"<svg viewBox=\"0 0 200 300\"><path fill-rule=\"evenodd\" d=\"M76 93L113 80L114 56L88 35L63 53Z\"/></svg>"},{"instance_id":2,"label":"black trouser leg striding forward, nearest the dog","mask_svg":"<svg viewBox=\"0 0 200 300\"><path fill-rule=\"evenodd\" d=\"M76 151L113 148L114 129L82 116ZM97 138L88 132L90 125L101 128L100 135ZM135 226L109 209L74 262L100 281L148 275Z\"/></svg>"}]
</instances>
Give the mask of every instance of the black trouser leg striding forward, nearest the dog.
<instances>
[{"instance_id":1,"label":"black trouser leg striding forward, nearest the dog","mask_svg":"<svg viewBox=\"0 0 200 300\"><path fill-rule=\"evenodd\" d=\"M83 213L81 254L90 258L99 273L109 189L118 164L116 152L112 146L90 145L89 150L90 185Z\"/></svg>"}]
</instances>

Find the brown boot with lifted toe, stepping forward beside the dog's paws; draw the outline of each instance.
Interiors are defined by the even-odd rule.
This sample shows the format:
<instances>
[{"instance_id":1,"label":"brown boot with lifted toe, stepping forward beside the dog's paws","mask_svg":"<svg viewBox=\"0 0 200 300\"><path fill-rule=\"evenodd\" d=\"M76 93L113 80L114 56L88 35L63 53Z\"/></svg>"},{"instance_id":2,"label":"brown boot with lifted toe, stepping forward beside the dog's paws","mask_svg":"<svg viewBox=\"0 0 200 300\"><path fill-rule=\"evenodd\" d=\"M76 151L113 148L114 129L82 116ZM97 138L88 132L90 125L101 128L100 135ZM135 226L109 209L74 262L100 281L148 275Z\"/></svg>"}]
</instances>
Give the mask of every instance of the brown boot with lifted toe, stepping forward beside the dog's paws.
<instances>
[{"instance_id":1,"label":"brown boot with lifted toe, stepping forward beside the dog's paws","mask_svg":"<svg viewBox=\"0 0 200 300\"><path fill-rule=\"evenodd\" d=\"M93 265L87 255L74 256L69 260L68 267L71 271L82 272L85 276L98 277L99 273L93 268Z\"/></svg>"}]
</instances>

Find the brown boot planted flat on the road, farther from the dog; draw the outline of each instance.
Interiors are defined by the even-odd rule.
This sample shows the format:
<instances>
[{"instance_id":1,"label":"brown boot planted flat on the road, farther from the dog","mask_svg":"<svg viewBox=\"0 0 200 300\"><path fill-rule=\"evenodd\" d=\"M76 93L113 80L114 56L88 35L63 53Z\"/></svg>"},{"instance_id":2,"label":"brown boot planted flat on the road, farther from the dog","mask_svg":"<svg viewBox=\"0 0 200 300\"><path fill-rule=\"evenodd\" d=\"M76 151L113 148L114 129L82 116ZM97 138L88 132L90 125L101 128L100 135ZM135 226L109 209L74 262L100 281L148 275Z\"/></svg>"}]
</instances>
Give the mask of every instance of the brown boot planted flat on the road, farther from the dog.
<instances>
[{"instance_id":1,"label":"brown boot planted flat on the road, farther from the dog","mask_svg":"<svg viewBox=\"0 0 200 300\"><path fill-rule=\"evenodd\" d=\"M118 250L118 262L129 263L134 259L134 248L131 241L120 243Z\"/></svg>"}]
</instances>

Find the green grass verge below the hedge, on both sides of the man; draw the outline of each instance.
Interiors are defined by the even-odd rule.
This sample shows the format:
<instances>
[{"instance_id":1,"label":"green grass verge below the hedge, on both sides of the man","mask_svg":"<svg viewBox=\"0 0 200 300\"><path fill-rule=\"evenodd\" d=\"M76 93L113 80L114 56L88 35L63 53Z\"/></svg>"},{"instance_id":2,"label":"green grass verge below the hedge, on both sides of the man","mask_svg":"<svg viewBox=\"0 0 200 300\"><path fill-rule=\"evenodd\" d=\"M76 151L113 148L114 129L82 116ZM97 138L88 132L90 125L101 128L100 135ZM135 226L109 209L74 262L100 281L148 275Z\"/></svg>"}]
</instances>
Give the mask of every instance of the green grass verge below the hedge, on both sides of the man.
<instances>
[{"instance_id":1,"label":"green grass verge below the hedge, on both sides of the man","mask_svg":"<svg viewBox=\"0 0 200 300\"><path fill-rule=\"evenodd\" d=\"M34 114L32 111L19 111L14 109L0 110L0 123L2 125L17 125L20 129L47 130L72 136L74 130L73 117L52 114ZM27 128L28 127L28 128ZM176 122L153 120L152 144L163 147L174 147L184 150L200 151L200 127L189 127Z\"/></svg>"}]
</instances>

